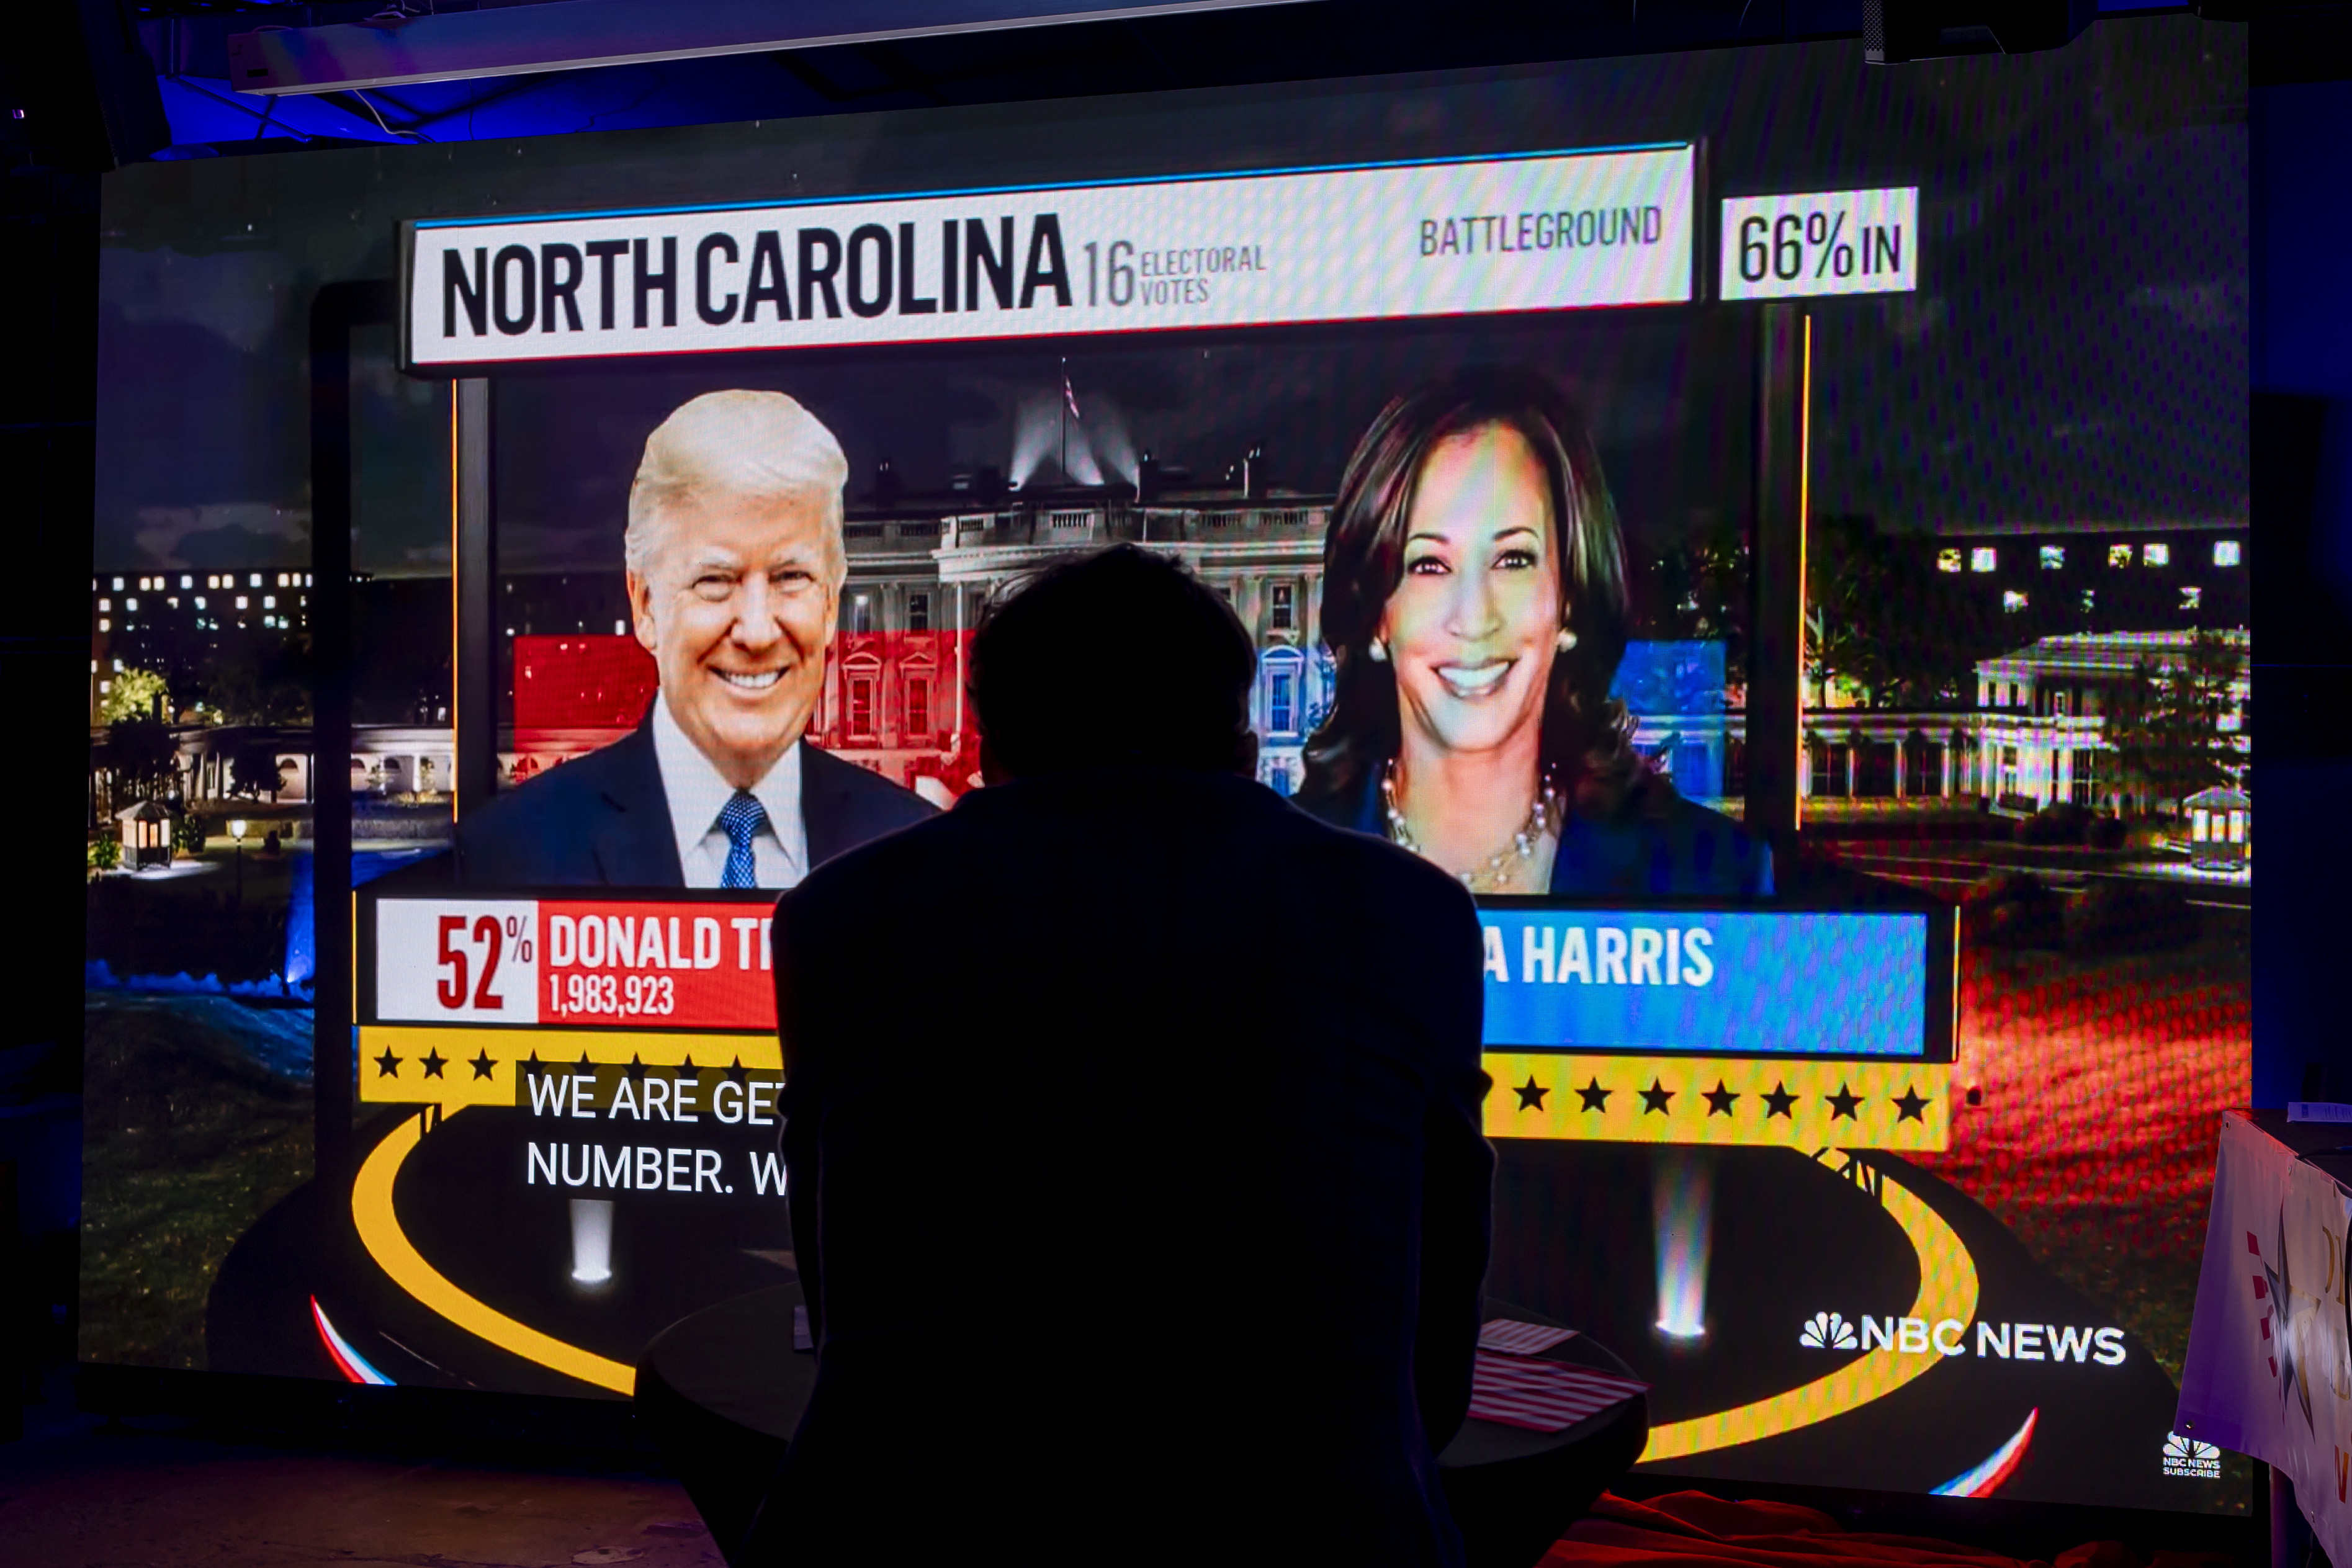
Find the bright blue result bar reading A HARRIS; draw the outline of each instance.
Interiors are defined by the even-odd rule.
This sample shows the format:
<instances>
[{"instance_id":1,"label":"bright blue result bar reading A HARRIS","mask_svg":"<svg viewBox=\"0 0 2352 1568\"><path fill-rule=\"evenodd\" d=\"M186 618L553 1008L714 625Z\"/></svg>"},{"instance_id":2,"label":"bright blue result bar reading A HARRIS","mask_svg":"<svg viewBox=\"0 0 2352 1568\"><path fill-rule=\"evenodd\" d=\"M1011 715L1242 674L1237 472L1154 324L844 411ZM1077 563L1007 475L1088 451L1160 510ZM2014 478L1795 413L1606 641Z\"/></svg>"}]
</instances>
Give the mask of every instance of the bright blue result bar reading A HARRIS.
<instances>
[{"instance_id":1,"label":"bright blue result bar reading A HARRIS","mask_svg":"<svg viewBox=\"0 0 2352 1568\"><path fill-rule=\"evenodd\" d=\"M1482 910L1486 1044L1926 1056L1929 917Z\"/></svg>"}]
</instances>

